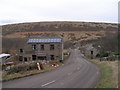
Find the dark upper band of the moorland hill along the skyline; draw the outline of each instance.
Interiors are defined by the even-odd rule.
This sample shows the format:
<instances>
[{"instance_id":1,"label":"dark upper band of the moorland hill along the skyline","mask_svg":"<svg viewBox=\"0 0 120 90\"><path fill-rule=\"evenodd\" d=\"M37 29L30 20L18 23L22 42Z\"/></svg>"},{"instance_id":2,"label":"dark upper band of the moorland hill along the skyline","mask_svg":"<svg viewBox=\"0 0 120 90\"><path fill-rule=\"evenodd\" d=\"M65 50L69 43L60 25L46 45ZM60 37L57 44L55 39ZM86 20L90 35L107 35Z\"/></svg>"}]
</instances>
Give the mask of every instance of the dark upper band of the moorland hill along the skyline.
<instances>
[{"instance_id":1,"label":"dark upper band of the moorland hill along the skyline","mask_svg":"<svg viewBox=\"0 0 120 90\"><path fill-rule=\"evenodd\" d=\"M95 22L34 22L3 25L3 35L15 32L45 31L111 31L117 30L117 24Z\"/></svg>"}]
</instances>

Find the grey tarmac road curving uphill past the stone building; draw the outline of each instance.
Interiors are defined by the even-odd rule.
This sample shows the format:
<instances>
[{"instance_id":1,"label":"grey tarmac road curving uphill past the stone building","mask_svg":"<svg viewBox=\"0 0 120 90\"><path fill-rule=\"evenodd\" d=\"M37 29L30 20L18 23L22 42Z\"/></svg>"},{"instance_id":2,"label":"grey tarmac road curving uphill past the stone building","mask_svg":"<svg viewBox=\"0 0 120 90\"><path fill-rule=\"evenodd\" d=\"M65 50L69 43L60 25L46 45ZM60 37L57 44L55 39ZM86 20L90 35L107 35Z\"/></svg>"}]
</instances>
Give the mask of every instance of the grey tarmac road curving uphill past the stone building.
<instances>
[{"instance_id":1,"label":"grey tarmac road curving uphill past the stone building","mask_svg":"<svg viewBox=\"0 0 120 90\"><path fill-rule=\"evenodd\" d=\"M3 88L94 88L99 68L74 49L64 66L29 77L4 82Z\"/></svg>"}]
</instances>

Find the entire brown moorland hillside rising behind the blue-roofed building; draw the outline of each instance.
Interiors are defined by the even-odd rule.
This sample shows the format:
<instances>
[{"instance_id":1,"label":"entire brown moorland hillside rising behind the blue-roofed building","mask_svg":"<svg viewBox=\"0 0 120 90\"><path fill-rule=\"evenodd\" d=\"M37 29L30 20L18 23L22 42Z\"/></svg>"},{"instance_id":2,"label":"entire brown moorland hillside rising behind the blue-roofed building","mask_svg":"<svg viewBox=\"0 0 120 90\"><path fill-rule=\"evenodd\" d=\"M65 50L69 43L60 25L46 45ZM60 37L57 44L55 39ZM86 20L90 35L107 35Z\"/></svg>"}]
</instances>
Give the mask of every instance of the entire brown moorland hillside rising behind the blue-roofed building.
<instances>
[{"instance_id":1,"label":"entire brown moorland hillside rising behind the blue-roofed building","mask_svg":"<svg viewBox=\"0 0 120 90\"><path fill-rule=\"evenodd\" d=\"M101 38L107 37L107 41L111 41L111 36L116 38L117 31L118 25L113 23L35 22L3 25L2 49L4 52L16 50L18 47L23 47L29 37L37 36L62 37L64 40L64 48L73 47L74 43L82 45L98 42L106 43L106 39L101 40ZM116 39L112 41L116 41ZM106 45L108 46L108 44ZM117 44L115 43L115 45ZM110 48L108 48L108 50Z\"/></svg>"}]
</instances>

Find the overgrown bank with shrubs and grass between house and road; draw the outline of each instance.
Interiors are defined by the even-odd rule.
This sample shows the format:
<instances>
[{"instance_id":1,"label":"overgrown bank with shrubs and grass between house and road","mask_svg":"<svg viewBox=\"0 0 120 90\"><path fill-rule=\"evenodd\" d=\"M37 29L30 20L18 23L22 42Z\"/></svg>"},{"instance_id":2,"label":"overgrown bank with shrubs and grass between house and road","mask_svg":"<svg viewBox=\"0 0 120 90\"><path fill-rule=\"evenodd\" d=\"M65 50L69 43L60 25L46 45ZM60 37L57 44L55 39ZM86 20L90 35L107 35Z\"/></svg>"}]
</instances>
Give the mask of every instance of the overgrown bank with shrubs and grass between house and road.
<instances>
[{"instance_id":1,"label":"overgrown bank with shrubs and grass between house and road","mask_svg":"<svg viewBox=\"0 0 120 90\"><path fill-rule=\"evenodd\" d=\"M65 51L65 53L70 52L67 49L64 50L64 51ZM68 59L68 57L69 57L69 55L64 55L64 63L66 62L66 60ZM37 66L37 64L35 66L33 66L33 65L31 66L31 68L34 68L32 70L26 70L27 68L30 68L30 67L28 67L30 65L28 65L26 67L20 67L20 68L18 68L19 69L18 73L14 72L14 71L16 71L16 70L14 70L10 74L3 74L2 75L2 79L0 81L8 81L8 80L12 80L12 79L27 77L27 76L31 76L31 75L35 75L35 74L40 74L40 73L44 73L44 72L47 72L47 71L51 71L51 70L57 68L57 67L51 66L52 64L56 64L56 65L58 64L57 67L63 65L58 60L54 60L54 61L51 61L48 64L43 64L43 68L44 68L43 70L38 70L37 68L35 68ZM17 71L18 71L18 69L17 69Z\"/></svg>"}]
</instances>

